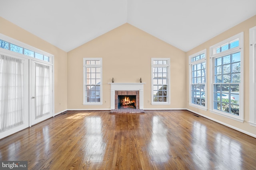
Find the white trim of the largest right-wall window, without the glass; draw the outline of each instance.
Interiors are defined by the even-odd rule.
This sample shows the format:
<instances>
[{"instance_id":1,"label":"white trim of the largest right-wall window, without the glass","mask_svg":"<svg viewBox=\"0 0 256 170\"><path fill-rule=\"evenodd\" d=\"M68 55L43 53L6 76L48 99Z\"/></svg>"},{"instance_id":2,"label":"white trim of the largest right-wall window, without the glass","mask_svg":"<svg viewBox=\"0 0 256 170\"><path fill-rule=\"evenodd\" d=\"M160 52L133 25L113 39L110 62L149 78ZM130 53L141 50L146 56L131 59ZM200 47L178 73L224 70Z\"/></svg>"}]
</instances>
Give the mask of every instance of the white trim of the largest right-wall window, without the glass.
<instances>
[{"instance_id":1,"label":"white trim of the largest right-wall window, without the glass","mask_svg":"<svg viewBox=\"0 0 256 170\"><path fill-rule=\"evenodd\" d=\"M223 45L224 43L230 42L234 39L239 38L239 46L234 47L232 49L228 49L226 51L216 53L214 54L213 51L216 47ZM244 122L244 32L238 33L224 41L221 41L220 43L217 43L216 45L213 45L210 47L210 112L215 113L217 115L221 115L224 117L228 117L230 119ZM230 113L225 113L223 111L218 111L216 109L213 109L213 86L214 86L214 59L215 57L224 56L226 54L236 53L240 51L241 52L241 82L239 84L239 115L232 115Z\"/></svg>"}]
</instances>

